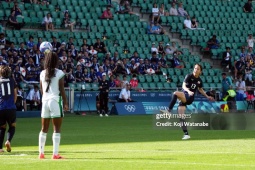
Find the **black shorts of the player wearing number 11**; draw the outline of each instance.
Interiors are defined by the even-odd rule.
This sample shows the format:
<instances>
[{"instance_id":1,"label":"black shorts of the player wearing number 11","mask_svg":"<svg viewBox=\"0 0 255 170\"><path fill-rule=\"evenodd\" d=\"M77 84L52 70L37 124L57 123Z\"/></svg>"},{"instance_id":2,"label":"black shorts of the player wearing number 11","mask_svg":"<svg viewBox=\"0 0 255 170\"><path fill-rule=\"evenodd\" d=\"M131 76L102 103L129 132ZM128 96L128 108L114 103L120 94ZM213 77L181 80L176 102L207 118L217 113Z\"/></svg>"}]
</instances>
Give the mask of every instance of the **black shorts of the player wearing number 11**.
<instances>
[{"instance_id":1,"label":"black shorts of the player wearing number 11","mask_svg":"<svg viewBox=\"0 0 255 170\"><path fill-rule=\"evenodd\" d=\"M0 126L5 125L6 122L9 126L16 122L16 109L0 111Z\"/></svg>"}]
</instances>

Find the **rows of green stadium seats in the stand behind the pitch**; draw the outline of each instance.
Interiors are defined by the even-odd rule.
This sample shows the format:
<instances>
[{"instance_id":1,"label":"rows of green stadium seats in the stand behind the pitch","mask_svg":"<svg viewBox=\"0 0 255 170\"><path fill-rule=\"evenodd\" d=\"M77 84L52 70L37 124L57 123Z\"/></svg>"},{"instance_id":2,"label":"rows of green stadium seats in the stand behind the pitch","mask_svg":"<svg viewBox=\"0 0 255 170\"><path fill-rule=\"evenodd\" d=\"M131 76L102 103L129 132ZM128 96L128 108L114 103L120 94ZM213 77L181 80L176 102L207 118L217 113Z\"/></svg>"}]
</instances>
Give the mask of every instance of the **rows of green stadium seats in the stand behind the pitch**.
<instances>
[{"instance_id":1,"label":"rows of green stadium seats in the stand behind the pitch","mask_svg":"<svg viewBox=\"0 0 255 170\"><path fill-rule=\"evenodd\" d=\"M118 59L121 59L125 67L126 74L129 74L128 79L130 79L131 74L136 73L137 70L134 67L139 67L131 64L131 59L133 58L133 53L135 51L139 54L139 59L143 59L144 62L146 59L150 60L151 58L151 45L154 42L156 47L159 42L163 42L164 46L166 44L171 44L171 40L168 34L147 34L147 29L150 25L148 21L141 21L139 15L135 14L116 14L116 9L119 6L119 3L112 2L111 12L113 14L112 20L102 20L100 16L102 12L106 9L106 1L101 0L57 0L52 1L49 5L40 5L40 4L30 4L19 2L19 8L22 10L22 16L18 17L18 22L25 23L24 27L21 30L14 30L12 27L1 26L0 31L5 33L5 38L10 42L13 42L18 52L18 55L24 55L18 50L20 44L24 42L25 48L30 36L33 36L33 43L36 47L33 50L29 51L28 56L34 57L36 54L36 48L38 43L41 41L52 42L52 37L56 37L57 41L60 44L65 44L65 47L68 46L69 38L73 38L73 45L76 49L77 54L75 54L73 47L69 50L66 50L66 55L62 55L59 50L59 56L62 60L62 65L60 68L65 69L67 72L67 82L66 86L69 86L73 89L81 88L79 83L75 83L76 78L76 65L81 64L82 70L90 67L94 67L96 72L98 72L97 66L103 66L104 71L109 74L115 74L113 72L114 66L105 66L103 65L105 59L109 57L110 60L114 60L112 64L119 64ZM141 14L147 15L151 13L153 3L152 0L133 0L131 7L140 8ZM163 3L165 9L169 10L171 7L171 1L168 0L158 0L157 4ZM222 52L225 50L225 47L230 47L232 55L232 62L234 63L235 56L239 56L240 47L246 46L246 38L249 34L253 34L254 26L252 25L252 19L254 18L254 13L244 13L242 6L244 5L242 1L206 1L206 0L183 0L182 1L184 9L190 15L190 17L195 16L199 27L205 28L205 30L189 30L183 28L184 17L180 16L161 16L161 25L164 27L171 28L171 33L178 33L180 40L190 40L190 46L199 46L201 51L206 50L207 41L213 36L217 35L217 38L220 42L220 47L218 49L212 49L211 59L212 60L221 60ZM13 8L13 2L4 2L1 1L0 9L0 20L7 21ZM63 25L64 11L68 10L71 20L76 22L74 32L68 32ZM56 31L44 31L41 25L43 17L51 13L53 18L53 24ZM168 31L168 30L166 30ZM84 44L84 39L86 43ZM90 50L89 45L94 45L97 39L101 39L104 45L107 48L107 53L97 53L96 61L93 64L93 56L90 55L89 59L84 56L83 52L80 52L83 45L85 47L83 50ZM65 42L65 43L63 43ZM69 44L71 45L71 44ZM68 46L69 48L69 46ZM88 49L86 49L88 48ZM143 75L144 73L139 74L139 88L152 89L152 90L162 90L162 89L173 89L180 87L180 83L183 80L183 76L191 72L194 63L203 61L203 56L200 54L192 54L191 48L182 48L177 44L177 48L180 51L178 58L182 61L184 65L183 69L172 68L172 54L166 55L166 64L170 67L161 67L162 74L156 75ZM9 52L9 47L7 48L7 53ZM72 51L73 50L73 51ZM108 52L110 54L108 54ZM113 57L114 53L118 52L116 58ZM108 57L107 57L108 55ZM67 58L72 60L71 63L74 64L73 68L69 68ZM158 58L161 57L161 54L158 55ZM91 58L91 59L90 59ZM4 58L6 62L9 62L8 58ZM24 59L26 59L24 57ZM126 61L124 61L126 59ZM34 58L34 60L36 60ZM37 74L40 72L40 62L37 62L36 69ZM139 61L135 61L138 63ZM18 61L14 61L15 64ZM109 62L111 63L111 62ZM29 67L25 66L26 61L23 61L20 66L26 70L27 75L31 73L30 70L27 70ZM69 63L70 64L70 63ZM210 63L202 63L205 70L203 73L203 79L205 82L205 87L215 87L220 89L220 75L222 70L220 68L212 68ZM145 66L146 67L146 66ZM146 67L147 69L152 66ZM156 66L153 66L156 67ZM111 71L109 71L111 69ZM32 73L31 73L32 74ZM36 74L36 73L35 73ZM171 77L170 83L166 82L166 76ZM88 75L82 75L88 76ZM86 81L86 90L98 90L98 85L96 83L96 73L91 73L89 78L91 81ZM25 77L26 79L26 77ZM33 79L34 80L34 79ZM35 78L34 81L38 80ZM30 81L27 79L27 81ZM21 83L22 87L26 88L24 83Z\"/></svg>"}]
</instances>

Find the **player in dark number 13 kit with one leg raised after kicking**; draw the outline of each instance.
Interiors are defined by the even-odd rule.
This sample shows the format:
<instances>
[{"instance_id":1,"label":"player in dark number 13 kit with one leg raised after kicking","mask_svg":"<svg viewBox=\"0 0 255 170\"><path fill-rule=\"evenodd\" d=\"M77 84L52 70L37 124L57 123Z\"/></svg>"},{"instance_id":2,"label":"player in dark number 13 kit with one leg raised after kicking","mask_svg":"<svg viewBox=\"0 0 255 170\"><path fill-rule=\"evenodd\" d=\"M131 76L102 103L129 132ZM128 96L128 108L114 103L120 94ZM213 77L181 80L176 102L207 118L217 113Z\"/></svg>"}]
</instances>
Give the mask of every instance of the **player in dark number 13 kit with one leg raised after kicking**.
<instances>
[{"instance_id":1,"label":"player in dark number 13 kit with one leg raised after kicking","mask_svg":"<svg viewBox=\"0 0 255 170\"><path fill-rule=\"evenodd\" d=\"M187 127L185 126L184 116L186 106L190 105L194 101L195 92L198 90L202 95L204 95L210 101L213 101L213 97L208 96L203 90L203 82L199 77L202 73L202 66L200 64L196 64L194 66L194 70L192 74L187 74L183 84L182 91L175 91L172 96L172 100L169 105L169 110L160 110L162 113L171 114L171 110L173 109L177 99L180 100L178 106L178 113L180 115L180 122L182 123L182 130L184 132L183 140L190 139L190 135L188 133Z\"/></svg>"}]
</instances>

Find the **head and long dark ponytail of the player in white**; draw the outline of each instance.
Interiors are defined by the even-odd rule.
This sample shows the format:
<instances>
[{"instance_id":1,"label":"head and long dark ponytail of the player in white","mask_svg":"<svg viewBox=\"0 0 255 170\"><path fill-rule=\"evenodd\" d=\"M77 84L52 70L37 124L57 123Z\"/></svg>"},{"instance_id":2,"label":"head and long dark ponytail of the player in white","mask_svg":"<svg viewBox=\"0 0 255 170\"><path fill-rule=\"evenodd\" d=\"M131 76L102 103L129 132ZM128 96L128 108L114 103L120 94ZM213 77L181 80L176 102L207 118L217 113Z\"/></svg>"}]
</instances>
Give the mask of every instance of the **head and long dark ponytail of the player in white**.
<instances>
[{"instance_id":1,"label":"head and long dark ponytail of the player in white","mask_svg":"<svg viewBox=\"0 0 255 170\"><path fill-rule=\"evenodd\" d=\"M44 61L44 69L45 73L45 81L48 83L46 92L49 91L51 78L55 76L55 68L58 65L58 56L55 52L49 52L45 54L45 61Z\"/></svg>"}]
</instances>

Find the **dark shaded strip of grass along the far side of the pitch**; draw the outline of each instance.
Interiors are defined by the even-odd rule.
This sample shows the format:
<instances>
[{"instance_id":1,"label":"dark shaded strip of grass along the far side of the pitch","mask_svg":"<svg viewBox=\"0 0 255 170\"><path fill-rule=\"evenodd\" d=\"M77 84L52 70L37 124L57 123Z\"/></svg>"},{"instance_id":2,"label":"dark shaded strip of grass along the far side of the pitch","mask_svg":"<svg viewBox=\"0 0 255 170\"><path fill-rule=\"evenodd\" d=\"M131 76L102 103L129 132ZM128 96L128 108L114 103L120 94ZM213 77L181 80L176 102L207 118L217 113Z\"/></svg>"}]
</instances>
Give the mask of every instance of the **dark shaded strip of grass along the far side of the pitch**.
<instances>
[{"instance_id":1,"label":"dark shaded strip of grass along the far side of the pitch","mask_svg":"<svg viewBox=\"0 0 255 170\"><path fill-rule=\"evenodd\" d=\"M37 146L40 118L18 119L13 146ZM153 125L153 116L74 116L64 118L61 145L107 144L130 142L181 141L183 132L160 130ZM218 139L254 139L254 131L191 130L191 141ZM47 145L52 145L52 129Z\"/></svg>"}]
</instances>

